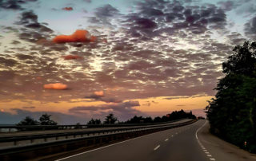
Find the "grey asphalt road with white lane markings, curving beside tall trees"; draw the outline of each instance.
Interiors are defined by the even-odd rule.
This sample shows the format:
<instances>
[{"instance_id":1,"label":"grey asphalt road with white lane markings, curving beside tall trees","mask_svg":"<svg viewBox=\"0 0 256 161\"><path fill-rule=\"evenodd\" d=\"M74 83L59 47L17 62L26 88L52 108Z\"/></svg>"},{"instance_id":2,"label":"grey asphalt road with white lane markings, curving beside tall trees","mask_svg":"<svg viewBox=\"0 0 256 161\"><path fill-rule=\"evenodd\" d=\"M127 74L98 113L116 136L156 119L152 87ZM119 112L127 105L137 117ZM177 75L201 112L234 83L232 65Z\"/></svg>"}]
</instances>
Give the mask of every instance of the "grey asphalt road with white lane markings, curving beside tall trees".
<instances>
[{"instance_id":1,"label":"grey asphalt road with white lane markings, curving beside tall trees","mask_svg":"<svg viewBox=\"0 0 256 161\"><path fill-rule=\"evenodd\" d=\"M120 143L58 156L58 161L236 161L256 160L255 155L240 150L211 135L206 120L180 128L143 135ZM223 150L224 149L224 150Z\"/></svg>"}]
</instances>

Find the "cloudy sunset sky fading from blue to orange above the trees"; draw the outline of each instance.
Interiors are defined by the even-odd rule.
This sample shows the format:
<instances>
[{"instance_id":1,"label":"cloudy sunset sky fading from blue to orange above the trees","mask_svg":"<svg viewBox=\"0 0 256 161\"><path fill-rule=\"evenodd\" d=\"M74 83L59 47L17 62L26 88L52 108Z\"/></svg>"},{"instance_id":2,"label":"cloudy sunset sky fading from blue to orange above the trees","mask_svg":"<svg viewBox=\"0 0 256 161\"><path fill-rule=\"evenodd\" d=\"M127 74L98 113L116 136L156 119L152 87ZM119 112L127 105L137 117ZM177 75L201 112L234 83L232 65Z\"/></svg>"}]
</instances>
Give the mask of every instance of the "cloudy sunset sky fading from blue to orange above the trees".
<instances>
[{"instance_id":1,"label":"cloudy sunset sky fading from blue to orange above the trees","mask_svg":"<svg viewBox=\"0 0 256 161\"><path fill-rule=\"evenodd\" d=\"M0 0L0 124L205 116L254 0Z\"/></svg>"}]
</instances>

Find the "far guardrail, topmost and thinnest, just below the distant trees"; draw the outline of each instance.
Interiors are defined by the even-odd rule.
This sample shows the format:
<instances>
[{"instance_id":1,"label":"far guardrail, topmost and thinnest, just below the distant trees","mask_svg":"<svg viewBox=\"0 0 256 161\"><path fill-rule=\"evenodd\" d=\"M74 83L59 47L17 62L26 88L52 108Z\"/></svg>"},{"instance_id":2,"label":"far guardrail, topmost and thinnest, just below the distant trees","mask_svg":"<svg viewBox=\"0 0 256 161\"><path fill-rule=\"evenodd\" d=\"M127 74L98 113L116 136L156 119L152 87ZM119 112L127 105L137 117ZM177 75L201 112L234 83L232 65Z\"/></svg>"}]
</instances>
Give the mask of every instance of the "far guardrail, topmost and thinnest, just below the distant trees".
<instances>
[{"instance_id":1,"label":"far guardrail, topmost and thinnest, just below the distant trees","mask_svg":"<svg viewBox=\"0 0 256 161\"><path fill-rule=\"evenodd\" d=\"M185 119L179 119L179 120L185 120ZM83 128L147 126L147 125L154 125L154 124L173 123L179 120L172 120L168 122L152 123L152 124L68 124L68 125L21 125L21 126L0 125L0 133L1 132L18 132L18 131L38 131L38 130L66 130L66 129L83 129Z\"/></svg>"}]
</instances>

